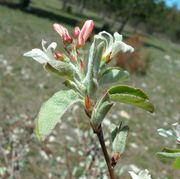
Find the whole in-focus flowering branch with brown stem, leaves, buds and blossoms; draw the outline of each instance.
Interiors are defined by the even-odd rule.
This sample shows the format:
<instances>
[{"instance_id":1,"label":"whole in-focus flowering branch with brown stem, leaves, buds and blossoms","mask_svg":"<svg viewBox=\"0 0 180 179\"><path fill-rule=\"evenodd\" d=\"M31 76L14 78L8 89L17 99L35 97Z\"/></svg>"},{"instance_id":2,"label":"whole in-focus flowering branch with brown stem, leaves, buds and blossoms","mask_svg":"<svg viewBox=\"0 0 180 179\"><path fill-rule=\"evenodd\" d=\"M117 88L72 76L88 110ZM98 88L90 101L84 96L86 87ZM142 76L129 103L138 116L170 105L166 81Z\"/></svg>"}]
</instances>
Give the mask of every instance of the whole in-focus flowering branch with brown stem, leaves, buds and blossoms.
<instances>
[{"instance_id":1,"label":"whole in-focus flowering branch with brown stem, leaves, buds and blossoms","mask_svg":"<svg viewBox=\"0 0 180 179\"><path fill-rule=\"evenodd\" d=\"M118 53L133 52L134 49L122 41L122 35L118 32L112 36L102 31L94 36L86 56L86 41L94 28L92 20L87 20L81 29L75 27L72 35L60 24L54 24L53 28L60 36L65 53L56 50L55 42L46 47L47 43L43 40L42 50L32 49L24 56L32 57L43 64L46 71L59 75L68 90L58 91L42 105L36 117L36 134L39 139L47 137L67 109L76 102L81 103L94 133L97 134L110 178L113 179L113 168L124 152L129 127L120 123L114 128L111 133L112 153L108 154L101 127L103 119L115 102L154 111L154 106L142 90L119 85L128 79L127 71L108 67ZM107 84L115 86L107 88ZM102 88L105 93L97 95L97 91Z\"/></svg>"}]
</instances>

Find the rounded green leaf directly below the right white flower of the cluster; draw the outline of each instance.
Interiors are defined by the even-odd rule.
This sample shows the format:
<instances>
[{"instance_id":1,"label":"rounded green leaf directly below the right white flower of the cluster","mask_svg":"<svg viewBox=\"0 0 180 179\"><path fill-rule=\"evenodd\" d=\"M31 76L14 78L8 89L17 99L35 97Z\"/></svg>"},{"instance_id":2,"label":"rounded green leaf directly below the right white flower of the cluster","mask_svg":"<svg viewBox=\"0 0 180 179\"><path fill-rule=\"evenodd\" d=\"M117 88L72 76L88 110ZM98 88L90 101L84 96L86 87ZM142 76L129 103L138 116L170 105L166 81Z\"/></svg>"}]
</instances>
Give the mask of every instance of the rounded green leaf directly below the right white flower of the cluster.
<instances>
[{"instance_id":1,"label":"rounded green leaf directly below the right white flower of the cluster","mask_svg":"<svg viewBox=\"0 0 180 179\"><path fill-rule=\"evenodd\" d=\"M128 80L128 71L122 70L120 68L107 68L101 75L99 79L100 85L105 85L109 83L117 83Z\"/></svg>"}]
</instances>

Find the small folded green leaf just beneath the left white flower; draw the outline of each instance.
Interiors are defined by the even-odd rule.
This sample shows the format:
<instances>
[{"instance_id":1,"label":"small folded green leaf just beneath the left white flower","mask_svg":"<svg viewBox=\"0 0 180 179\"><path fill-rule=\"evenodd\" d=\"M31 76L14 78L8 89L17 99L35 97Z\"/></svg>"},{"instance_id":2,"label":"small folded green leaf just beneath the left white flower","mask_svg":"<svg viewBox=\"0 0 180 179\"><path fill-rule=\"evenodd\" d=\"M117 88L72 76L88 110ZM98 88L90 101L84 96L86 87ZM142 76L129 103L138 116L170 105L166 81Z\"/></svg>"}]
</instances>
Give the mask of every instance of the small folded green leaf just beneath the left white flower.
<instances>
[{"instance_id":1,"label":"small folded green leaf just beneath the left white flower","mask_svg":"<svg viewBox=\"0 0 180 179\"><path fill-rule=\"evenodd\" d=\"M48 61L48 63L45 64L45 69L64 79L71 79L74 74L74 69L68 63L61 61Z\"/></svg>"}]
</instances>

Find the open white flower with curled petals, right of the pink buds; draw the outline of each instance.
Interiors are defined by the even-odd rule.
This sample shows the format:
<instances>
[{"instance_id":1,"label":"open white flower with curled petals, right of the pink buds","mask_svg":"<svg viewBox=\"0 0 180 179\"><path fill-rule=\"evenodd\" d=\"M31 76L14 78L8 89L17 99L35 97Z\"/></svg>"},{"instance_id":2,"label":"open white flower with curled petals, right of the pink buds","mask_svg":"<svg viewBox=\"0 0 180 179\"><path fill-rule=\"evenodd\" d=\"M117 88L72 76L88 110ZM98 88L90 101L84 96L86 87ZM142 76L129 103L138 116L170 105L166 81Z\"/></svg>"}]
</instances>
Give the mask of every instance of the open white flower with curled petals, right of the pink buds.
<instances>
[{"instance_id":1,"label":"open white flower with curled petals, right of the pink buds","mask_svg":"<svg viewBox=\"0 0 180 179\"><path fill-rule=\"evenodd\" d=\"M106 31L100 32L95 36L97 39L101 39L105 41L106 49L103 54L103 58L111 59L119 52L134 52L134 48L130 45L127 45L122 41L122 35L118 32L114 33L114 37Z\"/></svg>"}]
</instances>

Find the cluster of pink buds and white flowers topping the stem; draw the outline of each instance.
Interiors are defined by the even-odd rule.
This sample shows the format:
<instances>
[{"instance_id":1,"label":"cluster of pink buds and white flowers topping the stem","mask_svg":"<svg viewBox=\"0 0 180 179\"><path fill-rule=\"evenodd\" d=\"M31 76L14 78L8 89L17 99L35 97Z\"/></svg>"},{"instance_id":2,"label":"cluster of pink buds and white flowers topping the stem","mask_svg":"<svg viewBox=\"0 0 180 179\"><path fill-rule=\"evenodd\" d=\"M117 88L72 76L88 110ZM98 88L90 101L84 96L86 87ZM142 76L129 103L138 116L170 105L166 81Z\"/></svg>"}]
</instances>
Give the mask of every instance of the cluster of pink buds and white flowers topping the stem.
<instances>
[{"instance_id":1,"label":"cluster of pink buds and white flowers topping the stem","mask_svg":"<svg viewBox=\"0 0 180 179\"><path fill-rule=\"evenodd\" d=\"M94 22L87 20L81 29L75 27L70 34L63 25L55 23L53 29L59 34L64 50L56 50L56 42L46 47L47 42L42 40L42 50L32 49L24 56L32 57L43 64L47 71L59 74L65 79L66 86L82 96L93 96L102 81L100 71L107 68L106 64L119 52L134 51L122 41L119 33L115 32L112 36L102 31L94 36L86 57L85 45L93 28Z\"/></svg>"}]
</instances>

